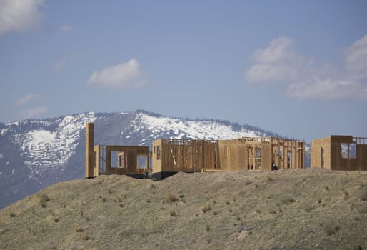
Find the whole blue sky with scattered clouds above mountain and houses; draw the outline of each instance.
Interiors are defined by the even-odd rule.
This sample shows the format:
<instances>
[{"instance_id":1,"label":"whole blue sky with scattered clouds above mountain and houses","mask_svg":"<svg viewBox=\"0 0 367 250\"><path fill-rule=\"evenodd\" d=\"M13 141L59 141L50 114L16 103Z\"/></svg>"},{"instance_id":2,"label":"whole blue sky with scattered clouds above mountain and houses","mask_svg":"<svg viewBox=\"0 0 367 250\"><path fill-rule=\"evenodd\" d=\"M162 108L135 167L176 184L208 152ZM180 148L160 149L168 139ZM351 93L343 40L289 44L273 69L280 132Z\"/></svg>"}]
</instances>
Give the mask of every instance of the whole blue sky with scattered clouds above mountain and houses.
<instances>
[{"instance_id":1,"label":"whole blue sky with scattered clouds above mountain and houses","mask_svg":"<svg viewBox=\"0 0 367 250\"><path fill-rule=\"evenodd\" d=\"M0 0L0 107L367 136L367 1Z\"/></svg>"}]
</instances>

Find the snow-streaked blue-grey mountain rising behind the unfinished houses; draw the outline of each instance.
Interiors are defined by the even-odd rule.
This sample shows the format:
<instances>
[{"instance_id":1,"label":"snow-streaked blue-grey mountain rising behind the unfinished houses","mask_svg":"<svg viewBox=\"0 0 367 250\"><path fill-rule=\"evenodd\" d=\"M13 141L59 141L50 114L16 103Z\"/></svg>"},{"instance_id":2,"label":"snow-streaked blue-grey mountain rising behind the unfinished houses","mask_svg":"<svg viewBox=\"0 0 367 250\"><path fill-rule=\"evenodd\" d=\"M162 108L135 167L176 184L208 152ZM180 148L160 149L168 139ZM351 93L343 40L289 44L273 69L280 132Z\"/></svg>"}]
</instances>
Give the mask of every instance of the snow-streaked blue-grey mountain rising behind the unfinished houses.
<instances>
[{"instance_id":1,"label":"snow-streaked blue-grey mountain rising behind the unfinished houses","mask_svg":"<svg viewBox=\"0 0 367 250\"><path fill-rule=\"evenodd\" d=\"M151 146L159 138L278 136L246 124L171 118L141 110L0 123L0 208L58 181L84 178L85 123L91 121L94 144Z\"/></svg>"}]
</instances>

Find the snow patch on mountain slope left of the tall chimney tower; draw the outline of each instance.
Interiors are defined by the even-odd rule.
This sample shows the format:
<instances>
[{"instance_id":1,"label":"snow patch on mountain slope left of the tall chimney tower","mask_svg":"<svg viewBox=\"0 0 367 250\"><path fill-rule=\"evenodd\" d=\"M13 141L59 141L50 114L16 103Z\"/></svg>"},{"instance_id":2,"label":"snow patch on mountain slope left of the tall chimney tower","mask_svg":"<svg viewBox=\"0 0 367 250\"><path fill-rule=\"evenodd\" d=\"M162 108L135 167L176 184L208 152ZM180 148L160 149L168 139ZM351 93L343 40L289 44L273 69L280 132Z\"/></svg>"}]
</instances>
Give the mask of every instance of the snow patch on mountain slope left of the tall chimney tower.
<instances>
[{"instance_id":1,"label":"snow patch on mountain slope left of the tall chimney tower","mask_svg":"<svg viewBox=\"0 0 367 250\"><path fill-rule=\"evenodd\" d=\"M41 129L15 134L12 141L23 151L24 164L31 171L29 177L37 179L44 171L64 170L67 161L75 154L81 129L86 122L94 120L94 113L65 116L54 131Z\"/></svg>"}]
</instances>

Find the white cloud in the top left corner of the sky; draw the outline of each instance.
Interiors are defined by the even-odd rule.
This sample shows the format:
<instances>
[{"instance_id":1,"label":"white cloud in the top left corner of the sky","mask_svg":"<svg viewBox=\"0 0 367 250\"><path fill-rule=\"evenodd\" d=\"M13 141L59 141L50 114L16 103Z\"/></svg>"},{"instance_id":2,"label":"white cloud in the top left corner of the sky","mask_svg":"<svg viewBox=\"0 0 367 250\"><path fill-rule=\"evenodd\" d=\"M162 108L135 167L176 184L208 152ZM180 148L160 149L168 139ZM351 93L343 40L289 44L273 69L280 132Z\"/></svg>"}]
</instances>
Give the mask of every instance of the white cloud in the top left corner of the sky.
<instances>
[{"instance_id":1,"label":"white cloud in the top left corner of the sky","mask_svg":"<svg viewBox=\"0 0 367 250\"><path fill-rule=\"evenodd\" d=\"M25 31L42 19L39 6L44 0L0 0L0 36L11 31Z\"/></svg>"}]
</instances>

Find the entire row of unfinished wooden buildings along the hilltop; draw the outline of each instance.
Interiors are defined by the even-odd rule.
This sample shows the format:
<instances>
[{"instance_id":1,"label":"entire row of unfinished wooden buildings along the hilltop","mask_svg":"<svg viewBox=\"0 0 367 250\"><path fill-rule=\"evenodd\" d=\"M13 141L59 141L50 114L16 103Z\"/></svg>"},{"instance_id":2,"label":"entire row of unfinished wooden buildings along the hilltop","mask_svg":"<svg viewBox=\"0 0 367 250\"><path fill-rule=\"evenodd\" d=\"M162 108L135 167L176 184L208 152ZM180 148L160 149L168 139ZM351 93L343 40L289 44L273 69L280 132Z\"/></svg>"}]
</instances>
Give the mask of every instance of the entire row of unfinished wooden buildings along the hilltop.
<instances>
[{"instance_id":1,"label":"entire row of unfinished wooden buildings along the hilltop","mask_svg":"<svg viewBox=\"0 0 367 250\"><path fill-rule=\"evenodd\" d=\"M311 166L367 171L367 138L330 136L311 141ZM164 179L177 172L304 169L305 142L274 137L228 140L156 139L149 146L94 145L86 124L86 178L126 174Z\"/></svg>"}]
</instances>

